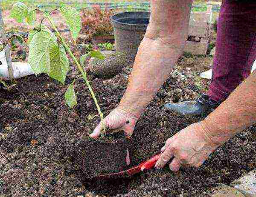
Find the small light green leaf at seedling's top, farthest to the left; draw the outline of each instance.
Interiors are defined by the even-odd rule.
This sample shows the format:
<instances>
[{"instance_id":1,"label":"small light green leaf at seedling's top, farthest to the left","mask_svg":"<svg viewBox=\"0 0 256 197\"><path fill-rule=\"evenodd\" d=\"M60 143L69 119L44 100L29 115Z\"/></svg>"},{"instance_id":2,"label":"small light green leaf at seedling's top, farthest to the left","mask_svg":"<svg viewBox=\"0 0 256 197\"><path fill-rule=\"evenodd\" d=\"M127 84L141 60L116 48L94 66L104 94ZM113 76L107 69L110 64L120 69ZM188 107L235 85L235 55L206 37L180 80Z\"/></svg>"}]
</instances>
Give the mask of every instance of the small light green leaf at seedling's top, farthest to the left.
<instances>
[{"instance_id":1,"label":"small light green leaf at seedling's top, farthest to the left","mask_svg":"<svg viewBox=\"0 0 256 197\"><path fill-rule=\"evenodd\" d=\"M13 5L10 17L14 18L18 23L22 23L28 15L28 8L24 3L15 3Z\"/></svg>"}]
</instances>

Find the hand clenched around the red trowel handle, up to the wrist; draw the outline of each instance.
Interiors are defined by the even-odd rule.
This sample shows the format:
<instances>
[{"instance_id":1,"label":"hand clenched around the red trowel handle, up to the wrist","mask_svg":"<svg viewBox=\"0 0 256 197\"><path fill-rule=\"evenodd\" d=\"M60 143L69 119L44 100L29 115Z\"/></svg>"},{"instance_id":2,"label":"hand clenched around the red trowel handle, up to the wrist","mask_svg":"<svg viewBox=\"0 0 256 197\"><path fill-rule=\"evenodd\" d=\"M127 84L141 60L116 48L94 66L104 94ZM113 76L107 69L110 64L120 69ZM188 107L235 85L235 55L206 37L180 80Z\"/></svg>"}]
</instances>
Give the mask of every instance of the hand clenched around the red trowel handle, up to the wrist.
<instances>
[{"instance_id":1,"label":"hand clenched around the red trowel handle, up to the wrist","mask_svg":"<svg viewBox=\"0 0 256 197\"><path fill-rule=\"evenodd\" d=\"M180 166L199 167L219 145L212 143L202 123L194 123L166 140L156 168L169 164L170 170L178 171Z\"/></svg>"}]
</instances>

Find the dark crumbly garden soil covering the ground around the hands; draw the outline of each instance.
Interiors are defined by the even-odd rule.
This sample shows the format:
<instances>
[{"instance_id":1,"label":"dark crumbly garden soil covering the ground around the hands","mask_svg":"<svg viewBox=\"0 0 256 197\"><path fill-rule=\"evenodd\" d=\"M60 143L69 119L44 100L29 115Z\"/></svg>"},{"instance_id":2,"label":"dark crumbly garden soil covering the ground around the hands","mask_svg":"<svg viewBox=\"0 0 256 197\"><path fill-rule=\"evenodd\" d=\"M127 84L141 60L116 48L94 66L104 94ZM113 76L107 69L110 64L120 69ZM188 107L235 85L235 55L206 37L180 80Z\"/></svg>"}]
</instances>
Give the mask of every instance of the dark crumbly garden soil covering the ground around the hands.
<instances>
[{"instance_id":1,"label":"dark crumbly garden soil covering the ground around the hands","mask_svg":"<svg viewBox=\"0 0 256 197\"><path fill-rule=\"evenodd\" d=\"M207 91L209 81L201 80L198 74L209 69L210 61L209 57L188 54L180 58L136 124L129 142L131 166L159 153L166 139L203 119L164 111L163 104L195 100L200 92ZM110 80L90 77L104 116L118 105L130 71L126 67ZM108 182L87 180L97 172L84 168L84 162L105 159L100 170L116 171L120 166L114 166L114 162L125 151L116 148L104 153L109 146L91 146L94 141L88 135L99 119L87 119L97 110L82 80L75 83L78 105L68 109L64 103L64 92L74 77L76 74L70 74L62 86L44 74L32 75L17 80L11 92L0 90L1 197L206 196L217 183L229 184L256 167L256 127L252 126L215 150L200 168L181 168L173 173L166 167ZM86 152L89 148L94 151ZM99 149L109 157L97 157ZM92 174L88 174L90 171Z\"/></svg>"}]
</instances>

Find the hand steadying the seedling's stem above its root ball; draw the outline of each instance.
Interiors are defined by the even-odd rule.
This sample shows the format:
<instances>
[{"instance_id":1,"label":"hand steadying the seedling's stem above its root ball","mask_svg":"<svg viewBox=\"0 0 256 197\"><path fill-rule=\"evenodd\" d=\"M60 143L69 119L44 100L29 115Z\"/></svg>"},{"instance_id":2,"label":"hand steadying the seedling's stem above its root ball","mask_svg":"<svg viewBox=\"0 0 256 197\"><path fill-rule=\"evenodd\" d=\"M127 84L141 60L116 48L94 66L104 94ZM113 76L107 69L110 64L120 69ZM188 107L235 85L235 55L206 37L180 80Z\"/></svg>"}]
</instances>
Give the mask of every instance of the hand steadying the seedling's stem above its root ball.
<instances>
[{"instance_id":1,"label":"hand steadying the seedling's stem above its root ball","mask_svg":"<svg viewBox=\"0 0 256 197\"><path fill-rule=\"evenodd\" d=\"M110 128L112 131L124 131L125 136L130 138L133 134L135 124L138 120L134 114L129 113L121 108L115 108L104 118L103 122L106 128ZM93 130L93 133L90 134L90 137L97 138L99 137L102 124L99 123L98 126Z\"/></svg>"}]
</instances>

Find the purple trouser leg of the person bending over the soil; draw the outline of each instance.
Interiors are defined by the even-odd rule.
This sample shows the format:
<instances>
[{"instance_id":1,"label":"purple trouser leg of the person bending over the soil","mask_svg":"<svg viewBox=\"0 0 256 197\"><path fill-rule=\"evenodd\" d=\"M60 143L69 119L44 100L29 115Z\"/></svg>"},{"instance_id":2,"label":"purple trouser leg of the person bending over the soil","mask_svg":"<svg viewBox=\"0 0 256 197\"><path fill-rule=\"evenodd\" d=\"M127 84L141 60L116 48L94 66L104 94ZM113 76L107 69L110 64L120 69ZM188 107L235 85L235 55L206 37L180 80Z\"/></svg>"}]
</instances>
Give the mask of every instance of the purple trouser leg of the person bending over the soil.
<instances>
[{"instance_id":1,"label":"purple trouser leg of the person bending over the soil","mask_svg":"<svg viewBox=\"0 0 256 197\"><path fill-rule=\"evenodd\" d=\"M256 59L256 0L223 0L208 96L224 101L251 72Z\"/></svg>"}]
</instances>

